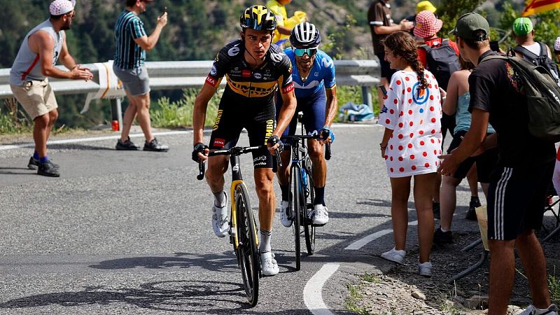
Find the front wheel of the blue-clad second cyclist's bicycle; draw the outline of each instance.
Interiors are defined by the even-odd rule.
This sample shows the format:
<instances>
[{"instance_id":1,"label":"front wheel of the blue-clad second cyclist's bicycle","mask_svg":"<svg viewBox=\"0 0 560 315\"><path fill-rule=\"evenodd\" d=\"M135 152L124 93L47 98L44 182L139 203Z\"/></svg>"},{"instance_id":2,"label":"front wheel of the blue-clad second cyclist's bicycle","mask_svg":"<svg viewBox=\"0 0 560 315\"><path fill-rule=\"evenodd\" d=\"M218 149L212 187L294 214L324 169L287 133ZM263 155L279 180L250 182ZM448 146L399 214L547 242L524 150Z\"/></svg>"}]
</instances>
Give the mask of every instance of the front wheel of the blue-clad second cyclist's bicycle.
<instances>
[{"instance_id":1,"label":"front wheel of the blue-clad second cyclist's bicycle","mask_svg":"<svg viewBox=\"0 0 560 315\"><path fill-rule=\"evenodd\" d=\"M299 166L292 167L290 172L290 183L292 186L292 200L290 201L290 214L293 215L293 237L295 244L295 269L299 270L301 268L301 218L302 218L302 207L303 207L303 190L302 190L302 173Z\"/></svg>"}]
</instances>

